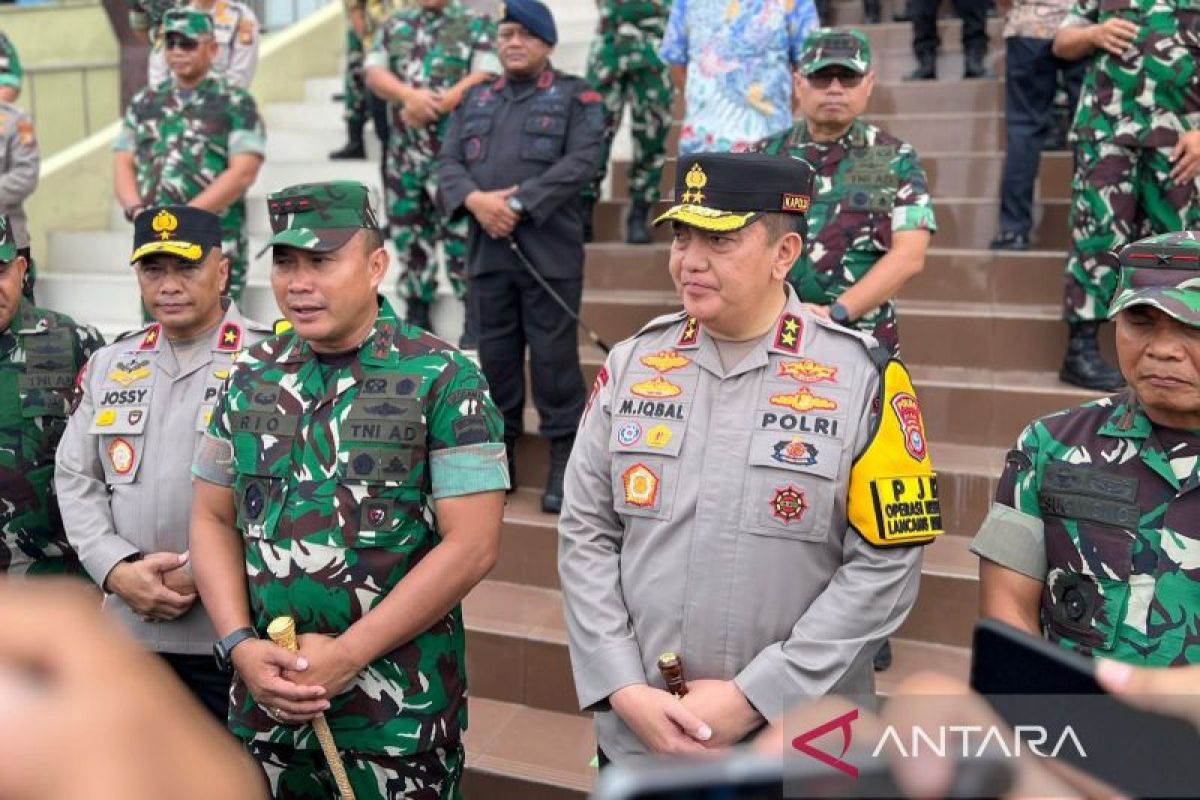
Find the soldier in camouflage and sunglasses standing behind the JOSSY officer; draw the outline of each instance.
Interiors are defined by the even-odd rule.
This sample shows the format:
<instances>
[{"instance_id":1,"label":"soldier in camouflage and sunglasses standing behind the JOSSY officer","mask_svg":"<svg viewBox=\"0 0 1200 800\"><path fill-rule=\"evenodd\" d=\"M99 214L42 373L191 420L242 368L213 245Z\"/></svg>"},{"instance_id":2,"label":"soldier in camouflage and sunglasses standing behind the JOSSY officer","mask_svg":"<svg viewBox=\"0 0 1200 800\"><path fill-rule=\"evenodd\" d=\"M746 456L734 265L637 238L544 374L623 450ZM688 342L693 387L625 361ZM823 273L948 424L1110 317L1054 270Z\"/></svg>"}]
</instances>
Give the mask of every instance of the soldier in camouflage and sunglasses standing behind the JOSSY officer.
<instances>
[{"instance_id":1,"label":"soldier in camouflage and sunglasses standing behind the JOSSY officer","mask_svg":"<svg viewBox=\"0 0 1200 800\"><path fill-rule=\"evenodd\" d=\"M212 18L191 10L163 17L173 79L133 96L113 143L116 199L131 222L148 205L194 205L221 217L229 290L246 285L244 194L263 164L266 134L254 98L210 73Z\"/></svg>"}]
</instances>

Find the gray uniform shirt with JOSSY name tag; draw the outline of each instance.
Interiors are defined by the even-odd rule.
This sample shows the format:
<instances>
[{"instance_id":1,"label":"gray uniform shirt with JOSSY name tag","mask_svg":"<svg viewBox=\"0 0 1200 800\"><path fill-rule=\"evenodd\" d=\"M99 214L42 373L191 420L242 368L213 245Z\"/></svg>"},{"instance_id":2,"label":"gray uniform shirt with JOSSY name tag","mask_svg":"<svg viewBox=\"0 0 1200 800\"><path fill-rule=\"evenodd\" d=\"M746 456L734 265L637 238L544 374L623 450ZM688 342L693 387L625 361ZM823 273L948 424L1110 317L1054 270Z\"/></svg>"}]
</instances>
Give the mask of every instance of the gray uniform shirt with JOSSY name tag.
<instances>
[{"instance_id":1,"label":"gray uniform shirt with JOSSY name tag","mask_svg":"<svg viewBox=\"0 0 1200 800\"><path fill-rule=\"evenodd\" d=\"M269 333L228 302L206 351L185 356L182 368L157 324L88 362L54 486L67 539L98 585L133 553L188 549L196 446L234 357ZM143 621L116 595L107 595L104 606L151 650L212 650L216 636L199 602L169 622Z\"/></svg>"}]
</instances>

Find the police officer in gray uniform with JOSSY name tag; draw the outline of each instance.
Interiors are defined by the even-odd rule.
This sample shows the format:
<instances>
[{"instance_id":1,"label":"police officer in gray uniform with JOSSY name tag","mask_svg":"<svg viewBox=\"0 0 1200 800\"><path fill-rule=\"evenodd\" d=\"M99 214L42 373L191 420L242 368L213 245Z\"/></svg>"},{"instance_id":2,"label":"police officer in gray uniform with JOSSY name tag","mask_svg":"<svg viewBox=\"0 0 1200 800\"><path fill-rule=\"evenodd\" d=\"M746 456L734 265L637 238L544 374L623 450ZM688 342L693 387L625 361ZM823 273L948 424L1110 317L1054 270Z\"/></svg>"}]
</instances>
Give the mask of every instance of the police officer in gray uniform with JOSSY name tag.
<instances>
[{"instance_id":1,"label":"police officer in gray uniform with JOSSY name tag","mask_svg":"<svg viewBox=\"0 0 1200 800\"><path fill-rule=\"evenodd\" d=\"M222 724L229 676L187 563L192 451L238 353L269 335L221 296L229 259L216 215L143 211L133 255L157 320L98 350L59 445L54 485L71 546L104 603Z\"/></svg>"}]
</instances>

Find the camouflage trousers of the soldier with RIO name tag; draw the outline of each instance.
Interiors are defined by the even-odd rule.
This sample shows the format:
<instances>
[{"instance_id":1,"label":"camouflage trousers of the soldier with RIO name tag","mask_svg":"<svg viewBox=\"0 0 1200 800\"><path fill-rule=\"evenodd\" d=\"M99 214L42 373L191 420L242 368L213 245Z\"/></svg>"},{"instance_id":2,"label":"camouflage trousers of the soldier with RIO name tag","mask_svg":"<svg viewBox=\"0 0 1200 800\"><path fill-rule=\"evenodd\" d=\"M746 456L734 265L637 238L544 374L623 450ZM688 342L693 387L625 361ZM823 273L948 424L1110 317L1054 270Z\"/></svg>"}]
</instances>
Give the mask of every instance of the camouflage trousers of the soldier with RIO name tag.
<instances>
[{"instance_id":1,"label":"camouflage trousers of the soldier with RIO name tag","mask_svg":"<svg viewBox=\"0 0 1200 800\"><path fill-rule=\"evenodd\" d=\"M266 775L275 800L329 800L337 783L319 750L294 750L265 741L247 742ZM416 753L342 753L359 800L462 800L462 745Z\"/></svg>"}]
</instances>

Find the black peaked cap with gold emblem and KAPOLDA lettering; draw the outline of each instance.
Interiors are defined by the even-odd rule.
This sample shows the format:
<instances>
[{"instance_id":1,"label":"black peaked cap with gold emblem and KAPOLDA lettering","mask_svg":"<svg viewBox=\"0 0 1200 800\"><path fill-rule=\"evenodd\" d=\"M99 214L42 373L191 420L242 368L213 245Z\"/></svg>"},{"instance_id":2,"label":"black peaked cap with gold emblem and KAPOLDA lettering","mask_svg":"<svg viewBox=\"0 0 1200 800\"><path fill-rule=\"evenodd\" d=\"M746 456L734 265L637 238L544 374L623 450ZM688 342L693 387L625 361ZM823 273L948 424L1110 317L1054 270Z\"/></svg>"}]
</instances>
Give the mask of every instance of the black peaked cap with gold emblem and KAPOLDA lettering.
<instances>
[{"instance_id":1,"label":"black peaked cap with gold emblem and KAPOLDA lettering","mask_svg":"<svg viewBox=\"0 0 1200 800\"><path fill-rule=\"evenodd\" d=\"M676 204L654 221L680 222L725 233L745 228L763 212L803 218L811 205L812 169L788 156L701 152L676 170Z\"/></svg>"}]
</instances>

